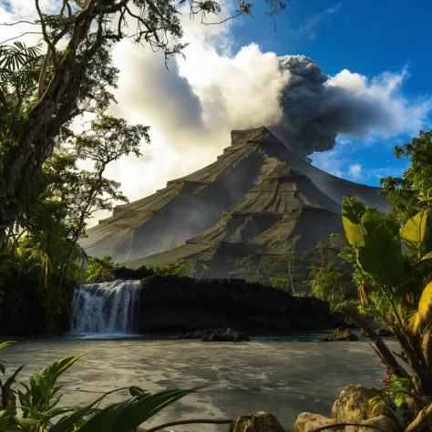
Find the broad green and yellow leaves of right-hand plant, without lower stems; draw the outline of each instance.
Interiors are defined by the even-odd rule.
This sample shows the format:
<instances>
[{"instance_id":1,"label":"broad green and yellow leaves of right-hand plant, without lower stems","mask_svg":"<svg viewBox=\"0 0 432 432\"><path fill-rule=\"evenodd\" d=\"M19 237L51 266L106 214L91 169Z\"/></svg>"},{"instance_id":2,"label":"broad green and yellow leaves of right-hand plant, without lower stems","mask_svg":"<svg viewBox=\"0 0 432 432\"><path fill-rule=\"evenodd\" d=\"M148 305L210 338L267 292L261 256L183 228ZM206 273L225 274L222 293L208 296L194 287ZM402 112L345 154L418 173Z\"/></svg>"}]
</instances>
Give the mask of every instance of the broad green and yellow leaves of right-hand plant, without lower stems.
<instances>
[{"instance_id":1,"label":"broad green and yellow leaves of right-hand plant, without lower stems","mask_svg":"<svg viewBox=\"0 0 432 432\"><path fill-rule=\"evenodd\" d=\"M355 217L345 211L354 208ZM431 267L424 258L432 249L432 244L426 242L427 214L418 213L396 233L392 222L378 211L345 198L343 217L350 219L344 226L358 265L358 281L369 287L363 303L375 309L382 319L393 316L389 324L402 326L406 331L404 322L410 323L408 326L417 331L427 317L432 299L432 284L427 283ZM355 236L354 232L362 234ZM402 243L406 256L402 255Z\"/></svg>"}]
</instances>

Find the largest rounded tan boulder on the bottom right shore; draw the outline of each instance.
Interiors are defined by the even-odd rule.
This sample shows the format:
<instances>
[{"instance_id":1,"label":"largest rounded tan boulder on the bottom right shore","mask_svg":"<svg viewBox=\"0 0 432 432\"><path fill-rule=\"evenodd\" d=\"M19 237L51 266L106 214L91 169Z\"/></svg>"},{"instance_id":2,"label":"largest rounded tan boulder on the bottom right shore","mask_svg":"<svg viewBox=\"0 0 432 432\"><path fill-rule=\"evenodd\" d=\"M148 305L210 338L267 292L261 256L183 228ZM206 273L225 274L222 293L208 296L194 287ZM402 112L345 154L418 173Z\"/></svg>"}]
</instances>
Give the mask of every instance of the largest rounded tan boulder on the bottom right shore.
<instances>
[{"instance_id":1,"label":"largest rounded tan boulder on the bottom right shore","mask_svg":"<svg viewBox=\"0 0 432 432\"><path fill-rule=\"evenodd\" d=\"M361 423L379 416L393 418L388 407L369 403L376 396L374 390L365 386L348 386L334 402L332 418L341 423Z\"/></svg>"}]
</instances>

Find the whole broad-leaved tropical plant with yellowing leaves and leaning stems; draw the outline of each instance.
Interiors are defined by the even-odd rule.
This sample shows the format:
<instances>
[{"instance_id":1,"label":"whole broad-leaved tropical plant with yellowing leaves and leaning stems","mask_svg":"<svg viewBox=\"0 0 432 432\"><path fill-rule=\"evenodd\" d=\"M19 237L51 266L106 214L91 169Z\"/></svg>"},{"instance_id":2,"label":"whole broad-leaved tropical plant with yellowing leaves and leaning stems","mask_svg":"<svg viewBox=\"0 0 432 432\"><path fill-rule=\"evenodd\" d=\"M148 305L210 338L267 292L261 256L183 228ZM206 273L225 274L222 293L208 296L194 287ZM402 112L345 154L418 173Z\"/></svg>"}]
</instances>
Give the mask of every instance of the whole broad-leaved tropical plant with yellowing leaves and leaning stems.
<instances>
[{"instance_id":1,"label":"whole broad-leaved tropical plant with yellowing leaves and leaning stems","mask_svg":"<svg viewBox=\"0 0 432 432\"><path fill-rule=\"evenodd\" d=\"M351 258L359 280L367 284L367 290L360 286L360 312L386 324L396 335L400 352L392 353L353 305L345 304L342 310L375 342L391 379L409 383L406 404L412 423L405 430L422 431L432 426L432 242L427 213L417 213L400 228L396 220L353 198L344 198L342 210Z\"/></svg>"}]
</instances>

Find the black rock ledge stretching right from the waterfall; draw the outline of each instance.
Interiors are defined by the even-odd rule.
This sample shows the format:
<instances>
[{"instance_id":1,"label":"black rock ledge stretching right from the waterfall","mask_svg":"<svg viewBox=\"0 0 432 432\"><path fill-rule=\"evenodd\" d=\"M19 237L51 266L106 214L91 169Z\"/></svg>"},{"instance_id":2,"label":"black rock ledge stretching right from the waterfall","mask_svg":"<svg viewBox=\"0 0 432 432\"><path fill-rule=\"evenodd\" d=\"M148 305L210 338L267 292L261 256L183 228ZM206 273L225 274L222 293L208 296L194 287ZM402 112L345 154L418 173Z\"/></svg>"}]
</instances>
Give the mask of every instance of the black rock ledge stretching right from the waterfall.
<instances>
[{"instance_id":1,"label":"black rock ledge stretching right from the waterfall","mask_svg":"<svg viewBox=\"0 0 432 432\"><path fill-rule=\"evenodd\" d=\"M328 303L236 279L150 276L141 281L138 308L139 333L235 328L245 334L283 334L328 328Z\"/></svg>"}]
</instances>

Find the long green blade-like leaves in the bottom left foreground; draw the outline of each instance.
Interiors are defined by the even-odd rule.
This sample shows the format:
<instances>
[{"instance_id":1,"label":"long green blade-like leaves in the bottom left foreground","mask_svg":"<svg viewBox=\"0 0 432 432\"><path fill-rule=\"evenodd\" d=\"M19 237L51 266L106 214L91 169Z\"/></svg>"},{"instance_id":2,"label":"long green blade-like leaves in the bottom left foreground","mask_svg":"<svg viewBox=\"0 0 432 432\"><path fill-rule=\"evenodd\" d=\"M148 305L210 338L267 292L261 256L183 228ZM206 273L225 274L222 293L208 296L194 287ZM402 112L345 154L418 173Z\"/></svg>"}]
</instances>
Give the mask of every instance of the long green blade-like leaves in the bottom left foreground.
<instances>
[{"instance_id":1,"label":"long green blade-like leaves in the bottom left foreground","mask_svg":"<svg viewBox=\"0 0 432 432\"><path fill-rule=\"evenodd\" d=\"M1 344L0 349L10 344L11 342ZM0 430L135 432L137 427L162 409L198 390L166 390L152 395L138 386L130 386L127 388L131 397L105 408L99 408L103 399L123 388L108 392L81 406L59 406L62 395L61 386L57 386L57 378L82 356L69 355L30 376L28 384L21 383L18 390L13 390L11 385L24 366L19 367L1 386ZM0 365L0 372L4 374L5 367L1 362ZM16 396L19 405L16 404ZM22 410L21 414L18 414L18 406Z\"/></svg>"}]
</instances>

